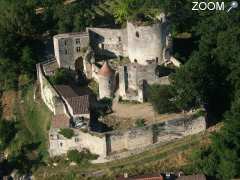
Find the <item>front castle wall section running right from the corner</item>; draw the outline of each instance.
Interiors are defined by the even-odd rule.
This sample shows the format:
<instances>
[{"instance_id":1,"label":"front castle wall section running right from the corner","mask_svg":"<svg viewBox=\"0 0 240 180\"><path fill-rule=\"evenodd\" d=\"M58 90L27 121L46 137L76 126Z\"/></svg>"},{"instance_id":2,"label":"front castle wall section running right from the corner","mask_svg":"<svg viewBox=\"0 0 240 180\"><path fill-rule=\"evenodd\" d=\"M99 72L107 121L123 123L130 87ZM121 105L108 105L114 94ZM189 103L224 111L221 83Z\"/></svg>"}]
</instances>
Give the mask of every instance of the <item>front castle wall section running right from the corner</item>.
<instances>
[{"instance_id":1,"label":"front castle wall section running right from the corner","mask_svg":"<svg viewBox=\"0 0 240 180\"><path fill-rule=\"evenodd\" d=\"M204 117L176 119L125 132L111 132L106 136L108 155L145 148L197 134L206 129Z\"/></svg>"}]
</instances>

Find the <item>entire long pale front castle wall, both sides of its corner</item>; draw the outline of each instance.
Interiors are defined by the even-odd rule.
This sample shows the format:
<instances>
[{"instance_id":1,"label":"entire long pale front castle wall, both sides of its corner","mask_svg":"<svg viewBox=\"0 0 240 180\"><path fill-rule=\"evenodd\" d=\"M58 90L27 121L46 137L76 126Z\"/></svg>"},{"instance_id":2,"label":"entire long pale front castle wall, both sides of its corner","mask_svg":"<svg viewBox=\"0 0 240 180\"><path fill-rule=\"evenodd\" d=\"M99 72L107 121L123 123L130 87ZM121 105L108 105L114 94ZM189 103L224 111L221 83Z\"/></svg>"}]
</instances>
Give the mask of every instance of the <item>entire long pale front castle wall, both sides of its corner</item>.
<instances>
[{"instance_id":1,"label":"entire long pale front castle wall, both sides of its corner","mask_svg":"<svg viewBox=\"0 0 240 180\"><path fill-rule=\"evenodd\" d=\"M173 119L143 128L101 134L74 129L75 136L72 139L66 139L58 134L58 130L51 129L49 153L50 156L56 156L71 149L87 148L99 155L99 159L94 162L100 163L136 154L155 144L167 143L205 129L205 117Z\"/></svg>"}]
</instances>

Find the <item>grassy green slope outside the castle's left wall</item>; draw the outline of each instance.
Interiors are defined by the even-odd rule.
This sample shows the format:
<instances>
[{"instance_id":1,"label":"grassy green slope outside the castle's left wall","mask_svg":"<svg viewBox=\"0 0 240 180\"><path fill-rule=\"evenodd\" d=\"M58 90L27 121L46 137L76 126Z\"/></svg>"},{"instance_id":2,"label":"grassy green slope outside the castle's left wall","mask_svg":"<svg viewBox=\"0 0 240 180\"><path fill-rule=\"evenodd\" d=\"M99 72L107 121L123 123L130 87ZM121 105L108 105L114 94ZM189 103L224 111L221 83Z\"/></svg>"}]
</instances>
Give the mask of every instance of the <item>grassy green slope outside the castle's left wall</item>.
<instances>
[{"instance_id":1,"label":"grassy green slope outside the castle's left wall","mask_svg":"<svg viewBox=\"0 0 240 180\"><path fill-rule=\"evenodd\" d=\"M19 91L18 100L15 104L15 116L18 122L18 134L11 145L14 153L23 144L38 144L37 151L43 156L43 160L48 158L48 129L52 113L42 101L36 103L33 100L33 86Z\"/></svg>"}]
</instances>

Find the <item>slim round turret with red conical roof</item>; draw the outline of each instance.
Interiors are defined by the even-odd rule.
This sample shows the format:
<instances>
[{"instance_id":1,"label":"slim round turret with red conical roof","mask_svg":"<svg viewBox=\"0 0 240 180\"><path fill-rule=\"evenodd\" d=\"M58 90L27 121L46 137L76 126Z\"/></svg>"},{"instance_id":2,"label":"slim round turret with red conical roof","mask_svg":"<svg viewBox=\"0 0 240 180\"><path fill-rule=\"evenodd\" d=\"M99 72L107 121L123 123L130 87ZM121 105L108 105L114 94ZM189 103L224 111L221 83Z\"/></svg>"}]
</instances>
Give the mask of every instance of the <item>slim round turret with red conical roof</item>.
<instances>
[{"instance_id":1,"label":"slim round turret with red conical roof","mask_svg":"<svg viewBox=\"0 0 240 180\"><path fill-rule=\"evenodd\" d=\"M99 97L111 98L114 89L114 71L108 65L107 61L103 64L98 72L98 83L99 83Z\"/></svg>"}]
</instances>

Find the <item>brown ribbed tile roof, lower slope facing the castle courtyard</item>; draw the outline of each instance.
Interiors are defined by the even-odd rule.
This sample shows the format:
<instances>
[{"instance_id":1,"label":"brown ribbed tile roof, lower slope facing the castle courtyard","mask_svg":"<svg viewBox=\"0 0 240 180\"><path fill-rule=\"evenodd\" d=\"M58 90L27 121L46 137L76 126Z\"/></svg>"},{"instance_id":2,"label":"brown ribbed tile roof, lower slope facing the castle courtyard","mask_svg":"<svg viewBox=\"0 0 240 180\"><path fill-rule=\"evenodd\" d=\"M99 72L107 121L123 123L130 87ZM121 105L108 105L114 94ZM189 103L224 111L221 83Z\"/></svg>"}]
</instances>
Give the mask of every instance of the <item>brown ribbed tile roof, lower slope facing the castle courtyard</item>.
<instances>
[{"instance_id":1,"label":"brown ribbed tile roof, lower slope facing the castle courtyard","mask_svg":"<svg viewBox=\"0 0 240 180\"><path fill-rule=\"evenodd\" d=\"M89 113L89 96L77 96L66 99L73 109L73 114L88 114Z\"/></svg>"}]
</instances>

